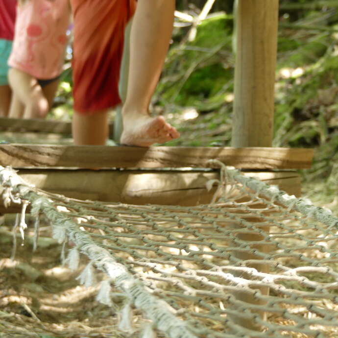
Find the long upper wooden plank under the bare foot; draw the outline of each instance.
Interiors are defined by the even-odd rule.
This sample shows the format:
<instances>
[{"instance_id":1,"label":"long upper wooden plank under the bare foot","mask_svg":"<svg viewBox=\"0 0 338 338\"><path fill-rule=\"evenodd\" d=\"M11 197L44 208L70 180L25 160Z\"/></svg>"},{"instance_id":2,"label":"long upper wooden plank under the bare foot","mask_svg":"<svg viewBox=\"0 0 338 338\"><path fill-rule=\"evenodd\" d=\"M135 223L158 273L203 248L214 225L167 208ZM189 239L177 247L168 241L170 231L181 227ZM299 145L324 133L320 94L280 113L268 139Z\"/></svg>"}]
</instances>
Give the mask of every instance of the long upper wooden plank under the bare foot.
<instances>
[{"instance_id":1,"label":"long upper wooden plank under the bare foot","mask_svg":"<svg viewBox=\"0 0 338 338\"><path fill-rule=\"evenodd\" d=\"M241 169L306 169L313 149L0 145L0 164L13 168L217 168L210 159Z\"/></svg>"}]
</instances>

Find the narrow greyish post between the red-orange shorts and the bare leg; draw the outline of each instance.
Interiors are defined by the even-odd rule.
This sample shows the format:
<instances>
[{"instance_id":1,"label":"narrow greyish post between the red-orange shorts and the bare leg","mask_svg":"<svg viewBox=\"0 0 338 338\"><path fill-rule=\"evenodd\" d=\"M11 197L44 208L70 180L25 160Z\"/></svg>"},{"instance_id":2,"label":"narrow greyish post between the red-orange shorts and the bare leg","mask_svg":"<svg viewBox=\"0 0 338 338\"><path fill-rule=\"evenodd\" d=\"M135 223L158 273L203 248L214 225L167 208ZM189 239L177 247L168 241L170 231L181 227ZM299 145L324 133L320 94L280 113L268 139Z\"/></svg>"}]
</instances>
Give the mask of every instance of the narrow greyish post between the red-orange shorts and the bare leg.
<instances>
[{"instance_id":1,"label":"narrow greyish post between the red-orange shorts and the bare leg","mask_svg":"<svg viewBox=\"0 0 338 338\"><path fill-rule=\"evenodd\" d=\"M125 27L124 32L124 46L123 46L123 55L122 63L120 70L120 81L119 81L119 95L121 97L122 103L125 101L127 96L128 88L128 74L129 74L129 55L130 55L130 29L131 29L132 19ZM122 105L119 105L116 108L115 119L114 119L114 141L119 144L121 139L121 134L123 130L122 124Z\"/></svg>"}]
</instances>

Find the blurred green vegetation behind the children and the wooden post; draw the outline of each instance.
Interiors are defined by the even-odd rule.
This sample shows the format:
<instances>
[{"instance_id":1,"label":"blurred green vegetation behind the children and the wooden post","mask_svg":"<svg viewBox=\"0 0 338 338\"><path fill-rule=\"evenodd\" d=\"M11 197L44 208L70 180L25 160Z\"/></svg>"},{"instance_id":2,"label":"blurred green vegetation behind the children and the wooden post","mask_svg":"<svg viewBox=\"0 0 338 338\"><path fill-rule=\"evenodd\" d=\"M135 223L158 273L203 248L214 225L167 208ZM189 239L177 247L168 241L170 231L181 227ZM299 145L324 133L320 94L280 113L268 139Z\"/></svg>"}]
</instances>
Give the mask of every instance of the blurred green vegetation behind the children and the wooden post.
<instances>
[{"instance_id":1,"label":"blurred green vegetation behind the children and the wooden post","mask_svg":"<svg viewBox=\"0 0 338 338\"><path fill-rule=\"evenodd\" d=\"M177 0L172 41L152 111L181 132L167 145L228 146L234 78L234 0L216 0L196 23L206 0ZM48 118L70 120L68 61ZM304 192L338 205L338 1L280 0L274 146L314 147L302 171Z\"/></svg>"}]
</instances>

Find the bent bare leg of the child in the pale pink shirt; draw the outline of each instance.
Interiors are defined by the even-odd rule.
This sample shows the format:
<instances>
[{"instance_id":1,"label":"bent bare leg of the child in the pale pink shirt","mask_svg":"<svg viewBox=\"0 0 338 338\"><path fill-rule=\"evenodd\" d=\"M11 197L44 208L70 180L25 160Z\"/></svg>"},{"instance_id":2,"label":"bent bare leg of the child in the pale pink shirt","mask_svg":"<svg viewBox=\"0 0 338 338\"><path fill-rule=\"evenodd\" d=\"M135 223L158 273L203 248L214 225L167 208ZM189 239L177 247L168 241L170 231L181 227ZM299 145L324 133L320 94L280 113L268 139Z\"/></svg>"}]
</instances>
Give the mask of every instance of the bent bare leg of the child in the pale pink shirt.
<instances>
[{"instance_id":1,"label":"bent bare leg of the child in the pale pink shirt","mask_svg":"<svg viewBox=\"0 0 338 338\"><path fill-rule=\"evenodd\" d=\"M48 101L36 78L11 68L8 72L9 84L16 97L24 104L24 119L39 119L48 113ZM17 116L15 105L11 105L9 116Z\"/></svg>"}]
</instances>

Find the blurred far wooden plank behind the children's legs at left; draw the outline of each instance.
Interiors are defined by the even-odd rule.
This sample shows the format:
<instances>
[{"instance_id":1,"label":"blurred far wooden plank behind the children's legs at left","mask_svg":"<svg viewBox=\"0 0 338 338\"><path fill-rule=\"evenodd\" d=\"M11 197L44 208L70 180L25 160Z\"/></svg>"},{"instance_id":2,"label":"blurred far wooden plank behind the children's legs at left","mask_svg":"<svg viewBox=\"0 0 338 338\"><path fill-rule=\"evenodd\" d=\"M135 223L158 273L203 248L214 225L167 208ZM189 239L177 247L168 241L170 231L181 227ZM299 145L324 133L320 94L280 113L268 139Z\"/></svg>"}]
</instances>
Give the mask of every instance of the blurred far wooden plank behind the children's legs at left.
<instances>
[{"instance_id":1,"label":"blurred far wooden plank behind the children's legs at left","mask_svg":"<svg viewBox=\"0 0 338 338\"><path fill-rule=\"evenodd\" d=\"M10 119L0 117L0 129L9 131L72 134L72 122L40 119ZM113 133L113 125L109 127L109 135Z\"/></svg>"}]
</instances>

